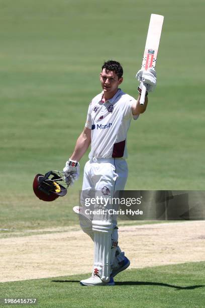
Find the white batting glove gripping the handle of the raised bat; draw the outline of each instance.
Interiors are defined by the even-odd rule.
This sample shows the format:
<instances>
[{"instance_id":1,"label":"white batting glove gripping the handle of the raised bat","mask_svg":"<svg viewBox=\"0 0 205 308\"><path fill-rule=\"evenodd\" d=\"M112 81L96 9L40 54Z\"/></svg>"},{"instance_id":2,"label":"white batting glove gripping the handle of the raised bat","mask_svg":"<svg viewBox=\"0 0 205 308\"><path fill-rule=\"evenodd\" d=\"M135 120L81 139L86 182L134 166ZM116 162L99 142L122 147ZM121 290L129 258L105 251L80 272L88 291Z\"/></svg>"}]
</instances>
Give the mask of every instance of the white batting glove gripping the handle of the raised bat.
<instances>
[{"instance_id":1,"label":"white batting glove gripping the handle of the raised bat","mask_svg":"<svg viewBox=\"0 0 205 308\"><path fill-rule=\"evenodd\" d=\"M140 89L145 84L147 92L154 91L157 84L157 74L154 68L140 69L136 74L136 79L140 82Z\"/></svg>"}]
</instances>

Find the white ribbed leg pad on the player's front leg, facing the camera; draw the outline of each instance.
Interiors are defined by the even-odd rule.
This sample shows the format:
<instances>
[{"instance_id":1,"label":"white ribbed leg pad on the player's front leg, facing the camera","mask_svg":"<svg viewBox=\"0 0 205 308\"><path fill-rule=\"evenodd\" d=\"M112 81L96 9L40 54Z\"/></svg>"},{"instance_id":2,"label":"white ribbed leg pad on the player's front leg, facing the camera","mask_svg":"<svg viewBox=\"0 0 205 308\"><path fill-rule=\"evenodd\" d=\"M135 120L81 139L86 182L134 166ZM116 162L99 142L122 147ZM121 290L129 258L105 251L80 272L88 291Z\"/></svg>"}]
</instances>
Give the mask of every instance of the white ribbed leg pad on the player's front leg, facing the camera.
<instances>
[{"instance_id":1,"label":"white ribbed leg pad on the player's front leg, facing the camera","mask_svg":"<svg viewBox=\"0 0 205 308\"><path fill-rule=\"evenodd\" d=\"M111 245L113 223L105 220L92 220L94 234L94 269L102 281L109 282L111 270Z\"/></svg>"}]
</instances>

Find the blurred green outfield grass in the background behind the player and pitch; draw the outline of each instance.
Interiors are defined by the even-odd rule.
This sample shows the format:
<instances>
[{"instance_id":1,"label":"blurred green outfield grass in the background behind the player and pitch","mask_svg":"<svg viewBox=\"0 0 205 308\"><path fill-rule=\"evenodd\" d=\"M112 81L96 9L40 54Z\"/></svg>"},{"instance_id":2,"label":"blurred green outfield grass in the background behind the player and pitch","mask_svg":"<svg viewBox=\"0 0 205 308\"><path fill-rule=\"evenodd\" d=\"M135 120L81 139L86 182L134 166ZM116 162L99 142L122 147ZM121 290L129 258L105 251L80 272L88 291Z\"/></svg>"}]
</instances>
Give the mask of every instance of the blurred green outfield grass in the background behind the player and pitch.
<instances>
[{"instance_id":1,"label":"blurred green outfield grass in the background behind the player and pitch","mask_svg":"<svg viewBox=\"0 0 205 308\"><path fill-rule=\"evenodd\" d=\"M0 170L2 228L76 223L81 177L68 195L36 199L37 173L62 170L100 92L104 60L124 67L122 89L137 96L151 13L165 16L158 85L128 135L126 189L203 190L204 2L156 0L0 0Z\"/></svg>"}]
</instances>

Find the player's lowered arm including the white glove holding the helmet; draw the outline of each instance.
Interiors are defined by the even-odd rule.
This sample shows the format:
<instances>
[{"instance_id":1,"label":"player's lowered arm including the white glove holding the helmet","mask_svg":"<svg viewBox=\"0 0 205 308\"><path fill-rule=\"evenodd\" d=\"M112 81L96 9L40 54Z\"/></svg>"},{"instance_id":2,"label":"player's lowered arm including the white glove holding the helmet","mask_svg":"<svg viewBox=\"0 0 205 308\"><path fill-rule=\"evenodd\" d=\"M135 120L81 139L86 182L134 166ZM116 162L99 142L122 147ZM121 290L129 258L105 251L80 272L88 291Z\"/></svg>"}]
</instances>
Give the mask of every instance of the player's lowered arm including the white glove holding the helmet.
<instances>
[{"instance_id":1,"label":"player's lowered arm including the white glove holding the helmet","mask_svg":"<svg viewBox=\"0 0 205 308\"><path fill-rule=\"evenodd\" d=\"M70 159L65 163L65 168L63 169L65 180L67 183L71 182L72 185L74 181L78 180L80 175L79 161L88 149L90 142L91 129L85 127L77 138L74 151Z\"/></svg>"}]
</instances>

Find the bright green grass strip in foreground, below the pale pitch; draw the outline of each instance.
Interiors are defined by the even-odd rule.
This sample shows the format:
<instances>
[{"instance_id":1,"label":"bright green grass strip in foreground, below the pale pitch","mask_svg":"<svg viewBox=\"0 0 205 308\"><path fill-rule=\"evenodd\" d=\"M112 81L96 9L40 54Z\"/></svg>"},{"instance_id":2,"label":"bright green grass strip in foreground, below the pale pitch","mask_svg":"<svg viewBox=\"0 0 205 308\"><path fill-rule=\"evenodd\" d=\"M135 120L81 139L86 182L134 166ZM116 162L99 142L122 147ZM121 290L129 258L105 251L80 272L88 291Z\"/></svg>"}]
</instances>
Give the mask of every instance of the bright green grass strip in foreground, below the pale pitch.
<instances>
[{"instance_id":1,"label":"bright green grass strip in foreground, below the pale pitch","mask_svg":"<svg viewBox=\"0 0 205 308\"><path fill-rule=\"evenodd\" d=\"M88 275L5 282L0 297L37 297L35 307L202 308L204 266L195 262L127 270L110 287L80 286L79 280Z\"/></svg>"}]
</instances>

